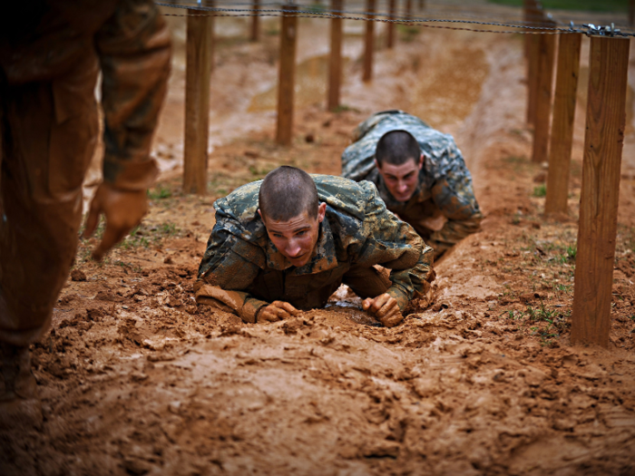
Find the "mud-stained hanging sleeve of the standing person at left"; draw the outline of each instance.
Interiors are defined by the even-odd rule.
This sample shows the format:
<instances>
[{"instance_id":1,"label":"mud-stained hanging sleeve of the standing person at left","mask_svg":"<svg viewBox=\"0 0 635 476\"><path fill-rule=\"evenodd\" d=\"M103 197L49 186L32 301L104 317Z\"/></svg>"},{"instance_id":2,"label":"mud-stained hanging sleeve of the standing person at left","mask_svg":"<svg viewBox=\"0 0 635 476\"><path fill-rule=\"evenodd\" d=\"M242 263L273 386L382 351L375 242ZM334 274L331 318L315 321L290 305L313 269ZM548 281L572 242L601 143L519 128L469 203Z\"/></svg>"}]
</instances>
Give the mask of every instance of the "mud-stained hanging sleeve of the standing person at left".
<instances>
[{"instance_id":1,"label":"mud-stained hanging sleeve of the standing person at left","mask_svg":"<svg viewBox=\"0 0 635 476\"><path fill-rule=\"evenodd\" d=\"M103 72L103 180L147 189L158 173L152 132L170 74L170 34L151 0L122 0L95 36Z\"/></svg>"}]
</instances>

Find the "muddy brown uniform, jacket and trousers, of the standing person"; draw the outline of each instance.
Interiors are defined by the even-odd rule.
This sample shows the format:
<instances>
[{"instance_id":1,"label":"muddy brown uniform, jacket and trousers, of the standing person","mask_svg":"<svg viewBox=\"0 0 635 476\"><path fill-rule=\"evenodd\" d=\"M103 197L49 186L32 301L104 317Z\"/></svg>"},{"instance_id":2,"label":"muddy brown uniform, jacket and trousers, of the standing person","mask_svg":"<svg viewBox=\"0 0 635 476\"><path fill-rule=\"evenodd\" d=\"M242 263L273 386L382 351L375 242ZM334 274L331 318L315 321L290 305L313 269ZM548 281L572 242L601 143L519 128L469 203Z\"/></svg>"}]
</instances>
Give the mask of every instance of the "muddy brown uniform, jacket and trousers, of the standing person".
<instances>
[{"instance_id":1,"label":"muddy brown uniform, jacket and trousers, of the standing person","mask_svg":"<svg viewBox=\"0 0 635 476\"><path fill-rule=\"evenodd\" d=\"M0 15L0 343L50 323L82 219L99 131L103 180L147 189L152 132L170 73L167 25L151 0L34 0Z\"/></svg>"}]
</instances>

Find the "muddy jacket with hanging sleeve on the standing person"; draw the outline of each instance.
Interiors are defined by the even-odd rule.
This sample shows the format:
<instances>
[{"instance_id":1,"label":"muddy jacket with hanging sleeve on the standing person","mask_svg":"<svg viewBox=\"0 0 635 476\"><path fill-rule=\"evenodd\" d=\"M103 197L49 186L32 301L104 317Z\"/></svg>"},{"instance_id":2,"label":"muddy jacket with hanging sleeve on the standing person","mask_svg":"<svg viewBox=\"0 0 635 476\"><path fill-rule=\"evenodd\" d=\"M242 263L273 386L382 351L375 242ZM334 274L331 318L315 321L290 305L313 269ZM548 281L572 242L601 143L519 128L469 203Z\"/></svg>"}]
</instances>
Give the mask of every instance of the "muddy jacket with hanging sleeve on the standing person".
<instances>
[{"instance_id":1,"label":"muddy jacket with hanging sleeve on the standing person","mask_svg":"<svg viewBox=\"0 0 635 476\"><path fill-rule=\"evenodd\" d=\"M158 174L151 140L171 66L170 32L154 2L14 2L0 15L0 83L50 83L58 121L87 107L73 90L83 78L67 76L91 56L103 73L103 180L147 189Z\"/></svg>"}]
</instances>

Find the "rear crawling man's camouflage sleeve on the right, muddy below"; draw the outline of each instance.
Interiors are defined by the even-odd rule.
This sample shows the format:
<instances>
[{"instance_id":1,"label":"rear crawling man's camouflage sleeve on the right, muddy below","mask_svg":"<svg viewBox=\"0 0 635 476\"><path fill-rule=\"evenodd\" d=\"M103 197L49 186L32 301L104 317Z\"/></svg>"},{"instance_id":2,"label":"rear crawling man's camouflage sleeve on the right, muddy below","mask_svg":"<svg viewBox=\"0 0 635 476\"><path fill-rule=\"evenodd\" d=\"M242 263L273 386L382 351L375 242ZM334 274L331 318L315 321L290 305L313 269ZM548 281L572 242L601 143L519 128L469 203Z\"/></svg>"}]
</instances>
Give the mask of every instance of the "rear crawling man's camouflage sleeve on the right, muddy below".
<instances>
[{"instance_id":1,"label":"rear crawling man's camouflage sleeve on the right, muddy below","mask_svg":"<svg viewBox=\"0 0 635 476\"><path fill-rule=\"evenodd\" d=\"M433 232L428 238L428 244L435 248L435 255L438 256L476 232L483 215L474 197L470 172L460 165L454 165L444 178L436 181L432 198L447 219L444 228Z\"/></svg>"}]
</instances>

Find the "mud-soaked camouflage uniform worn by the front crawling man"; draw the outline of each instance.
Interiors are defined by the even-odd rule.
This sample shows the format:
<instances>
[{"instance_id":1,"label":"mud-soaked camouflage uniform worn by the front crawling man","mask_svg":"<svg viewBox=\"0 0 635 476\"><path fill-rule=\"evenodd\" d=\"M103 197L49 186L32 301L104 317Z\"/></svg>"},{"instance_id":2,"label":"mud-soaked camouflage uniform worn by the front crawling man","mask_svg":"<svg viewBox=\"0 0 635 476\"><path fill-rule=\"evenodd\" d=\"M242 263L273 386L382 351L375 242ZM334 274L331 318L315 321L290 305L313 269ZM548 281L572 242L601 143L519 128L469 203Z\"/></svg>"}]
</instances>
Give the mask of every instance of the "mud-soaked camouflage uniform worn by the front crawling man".
<instances>
[{"instance_id":1,"label":"mud-soaked camouflage uniform worn by the front crawling man","mask_svg":"<svg viewBox=\"0 0 635 476\"><path fill-rule=\"evenodd\" d=\"M367 181L313 175L327 203L313 257L293 267L273 245L257 212L261 181L214 202L216 225L200 267L197 301L256 322L259 308L275 300L298 309L324 306L341 283L360 297L383 293L399 307L423 293L434 278L432 248L396 219ZM390 277L374 265L391 269Z\"/></svg>"}]
</instances>

